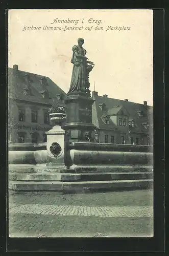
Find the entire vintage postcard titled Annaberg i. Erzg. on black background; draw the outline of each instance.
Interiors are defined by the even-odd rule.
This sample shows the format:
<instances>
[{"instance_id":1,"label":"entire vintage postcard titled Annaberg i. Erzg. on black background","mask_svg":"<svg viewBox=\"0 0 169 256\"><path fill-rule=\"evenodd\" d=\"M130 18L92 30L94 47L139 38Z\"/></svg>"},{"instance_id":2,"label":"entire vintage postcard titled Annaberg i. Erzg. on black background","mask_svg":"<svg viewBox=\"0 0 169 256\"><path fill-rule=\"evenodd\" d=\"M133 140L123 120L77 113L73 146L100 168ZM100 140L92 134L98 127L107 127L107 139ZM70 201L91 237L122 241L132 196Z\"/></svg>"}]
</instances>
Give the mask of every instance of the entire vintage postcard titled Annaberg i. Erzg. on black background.
<instances>
[{"instance_id":1,"label":"entire vintage postcard titled Annaberg i. Erzg. on black background","mask_svg":"<svg viewBox=\"0 0 169 256\"><path fill-rule=\"evenodd\" d=\"M8 11L10 238L152 238L153 10Z\"/></svg>"}]
</instances>

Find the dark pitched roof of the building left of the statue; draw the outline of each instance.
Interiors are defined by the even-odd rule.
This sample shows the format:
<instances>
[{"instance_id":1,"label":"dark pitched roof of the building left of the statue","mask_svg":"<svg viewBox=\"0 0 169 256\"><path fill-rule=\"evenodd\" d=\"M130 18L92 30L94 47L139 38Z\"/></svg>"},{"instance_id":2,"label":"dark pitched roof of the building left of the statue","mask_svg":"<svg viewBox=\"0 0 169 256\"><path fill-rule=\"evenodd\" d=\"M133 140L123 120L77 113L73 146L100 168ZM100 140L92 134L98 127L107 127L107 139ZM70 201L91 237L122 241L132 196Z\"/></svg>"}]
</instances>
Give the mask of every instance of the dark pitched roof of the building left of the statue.
<instances>
[{"instance_id":1,"label":"dark pitched roof of the building left of the statue","mask_svg":"<svg viewBox=\"0 0 169 256\"><path fill-rule=\"evenodd\" d=\"M16 75L15 75L16 74ZM29 73L21 70L15 71L13 73L12 68L8 68L8 92L9 97L27 100L31 102L38 102L44 104L52 104L53 98L58 94L66 95L66 93L60 89L56 83L54 83L49 77L37 75L34 73ZM28 86L25 76L29 74L30 89L33 96L23 95L23 90ZM40 79L46 79L46 84L42 84ZM47 87L46 87L47 86ZM41 95L43 91L47 90L49 92L49 99L44 99Z\"/></svg>"}]
</instances>

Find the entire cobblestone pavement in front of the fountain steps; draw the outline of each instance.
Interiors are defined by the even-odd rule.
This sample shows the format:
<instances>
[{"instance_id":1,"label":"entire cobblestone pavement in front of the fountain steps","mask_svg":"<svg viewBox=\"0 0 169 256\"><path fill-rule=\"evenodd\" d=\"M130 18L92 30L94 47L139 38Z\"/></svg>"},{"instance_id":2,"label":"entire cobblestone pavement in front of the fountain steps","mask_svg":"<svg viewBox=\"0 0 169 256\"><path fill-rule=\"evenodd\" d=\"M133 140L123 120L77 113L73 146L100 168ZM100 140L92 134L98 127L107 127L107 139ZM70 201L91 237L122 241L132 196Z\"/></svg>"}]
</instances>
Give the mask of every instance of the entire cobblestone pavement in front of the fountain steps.
<instances>
[{"instance_id":1,"label":"entire cobblestone pavement in front of the fountain steps","mask_svg":"<svg viewBox=\"0 0 169 256\"><path fill-rule=\"evenodd\" d=\"M153 191L9 195L10 237L153 236Z\"/></svg>"}]
</instances>

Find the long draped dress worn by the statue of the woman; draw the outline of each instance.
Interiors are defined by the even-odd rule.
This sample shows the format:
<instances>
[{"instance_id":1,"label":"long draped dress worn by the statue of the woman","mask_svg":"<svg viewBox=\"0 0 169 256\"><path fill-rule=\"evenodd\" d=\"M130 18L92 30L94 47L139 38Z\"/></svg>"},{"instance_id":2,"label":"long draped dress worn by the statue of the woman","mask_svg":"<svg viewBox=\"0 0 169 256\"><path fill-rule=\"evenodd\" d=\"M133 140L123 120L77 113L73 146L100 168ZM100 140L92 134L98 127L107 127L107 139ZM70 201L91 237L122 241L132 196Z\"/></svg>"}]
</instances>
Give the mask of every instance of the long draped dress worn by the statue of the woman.
<instances>
[{"instance_id":1,"label":"long draped dress worn by the statue of the woman","mask_svg":"<svg viewBox=\"0 0 169 256\"><path fill-rule=\"evenodd\" d=\"M71 58L71 63L74 64L73 72L70 82L70 92L85 92L86 89L86 60L83 58L77 58L75 52L78 55L85 56L86 50L79 46L73 46L73 56Z\"/></svg>"}]
</instances>

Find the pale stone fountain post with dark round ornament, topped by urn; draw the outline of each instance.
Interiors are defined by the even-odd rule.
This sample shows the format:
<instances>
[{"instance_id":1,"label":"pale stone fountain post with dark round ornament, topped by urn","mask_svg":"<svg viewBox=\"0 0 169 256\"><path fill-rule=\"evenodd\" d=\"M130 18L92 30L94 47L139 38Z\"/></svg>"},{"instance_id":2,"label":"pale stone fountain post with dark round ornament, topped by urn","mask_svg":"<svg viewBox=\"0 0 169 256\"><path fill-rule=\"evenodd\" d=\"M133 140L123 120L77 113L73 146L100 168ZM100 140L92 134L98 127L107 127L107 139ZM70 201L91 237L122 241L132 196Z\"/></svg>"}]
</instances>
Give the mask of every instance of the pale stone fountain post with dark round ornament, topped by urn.
<instances>
[{"instance_id":1,"label":"pale stone fountain post with dark round ornament, topped by urn","mask_svg":"<svg viewBox=\"0 0 169 256\"><path fill-rule=\"evenodd\" d=\"M46 132L46 167L54 168L58 171L65 168L65 131L61 127L65 117L66 115L62 113L50 114L50 121L53 125L53 128L50 131Z\"/></svg>"}]
</instances>

